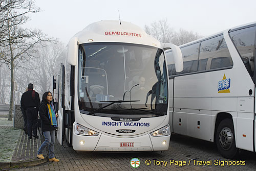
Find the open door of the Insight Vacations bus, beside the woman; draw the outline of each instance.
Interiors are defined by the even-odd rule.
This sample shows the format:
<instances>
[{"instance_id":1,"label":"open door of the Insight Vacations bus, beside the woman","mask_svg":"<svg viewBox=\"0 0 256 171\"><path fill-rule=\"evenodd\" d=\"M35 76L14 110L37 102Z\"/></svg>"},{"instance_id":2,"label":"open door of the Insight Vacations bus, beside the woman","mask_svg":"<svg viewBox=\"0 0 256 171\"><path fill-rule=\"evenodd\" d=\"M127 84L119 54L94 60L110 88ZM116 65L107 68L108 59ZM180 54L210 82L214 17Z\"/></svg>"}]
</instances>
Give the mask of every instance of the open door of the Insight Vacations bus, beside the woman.
<instances>
[{"instance_id":1,"label":"open door of the Insight Vacations bus, beside the woman","mask_svg":"<svg viewBox=\"0 0 256 171\"><path fill-rule=\"evenodd\" d=\"M59 103L58 103L58 132L57 132L57 139L62 145L64 137L65 137L65 66L61 63L60 72L59 72L59 79L58 79L58 96L59 96Z\"/></svg>"}]
</instances>

